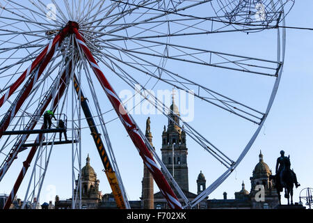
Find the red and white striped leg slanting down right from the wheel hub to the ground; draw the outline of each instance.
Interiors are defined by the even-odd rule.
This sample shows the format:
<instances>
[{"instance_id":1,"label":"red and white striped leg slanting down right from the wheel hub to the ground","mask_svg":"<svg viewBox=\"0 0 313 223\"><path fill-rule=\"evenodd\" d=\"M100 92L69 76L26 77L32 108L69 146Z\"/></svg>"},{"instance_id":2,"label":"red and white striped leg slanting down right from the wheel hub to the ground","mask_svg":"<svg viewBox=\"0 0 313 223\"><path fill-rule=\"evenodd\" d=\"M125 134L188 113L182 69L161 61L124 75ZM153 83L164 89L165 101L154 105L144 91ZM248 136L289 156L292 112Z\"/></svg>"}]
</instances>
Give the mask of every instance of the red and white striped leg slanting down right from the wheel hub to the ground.
<instances>
[{"instance_id":1,"label":"red and white striped leg slanting down right from the wheel hub to the ground","mask_svg":"<svg viewBox=\"0 0 313 223\"><path fill-rule=\"evenodd\" d=\"M168 201L168 205L172 209L182 209L181 203L178 201L175 193L172 191L172 188L168 184L168 181L163 176L158 164L154 161L154 158L152 157L149 149L147 148L147 145L145 144L145 140L141 137L140 132L138 132L138 126L136 125L136 123L134 123L134 121L132 121L133 119L123 107L120 99L118 98L118 95L115 93L115 91L109 84L108 80L100 70L99 66L97 65L97 62L95 61L93 55L86 46L86 43L83 40L78 29L74 28L73 32L75 33L75 38L79 43L79 47L81 47L81 49L83 50L83 53L85 54L86 58L88 59L88 62L90 63L90 66L93 68L93 71L97 76L97 79L99 80L107 97L109 98L111 104L113 105L115 112L120 117L120 120L122 121L123 125L125 126L125 129L129 134L129 137L131 137L131 140L136 146L139 155L141 155L143 162L145 163L150 173L152 174L154 181L157 183L159 189L161 190L161 193L166 198L166 201Z\"/></svg>"}]
</instances>

